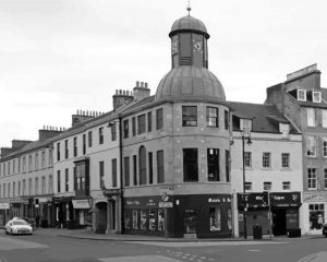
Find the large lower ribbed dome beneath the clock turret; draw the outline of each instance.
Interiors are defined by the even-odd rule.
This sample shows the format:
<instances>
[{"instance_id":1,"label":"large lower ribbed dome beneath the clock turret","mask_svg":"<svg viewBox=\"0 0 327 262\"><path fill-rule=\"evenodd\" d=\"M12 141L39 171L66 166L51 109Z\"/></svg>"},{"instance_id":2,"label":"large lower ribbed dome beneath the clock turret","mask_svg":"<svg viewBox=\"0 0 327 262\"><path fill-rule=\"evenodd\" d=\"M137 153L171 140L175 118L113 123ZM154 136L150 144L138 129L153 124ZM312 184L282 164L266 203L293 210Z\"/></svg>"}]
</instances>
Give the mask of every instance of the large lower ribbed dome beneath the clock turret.
<instances>
[{"instance_id":1,"label":"large lower ribbed dome beneath the clock turret","mask_svg":"<svg viewBox=\"0 0 327 262\"><path fill-rule=\"evenodd\" d=\"M197 67L179 67L167 73L157 87L156 99L161 98L226 100L215 74Z\"/></svg>"}]
</instances>

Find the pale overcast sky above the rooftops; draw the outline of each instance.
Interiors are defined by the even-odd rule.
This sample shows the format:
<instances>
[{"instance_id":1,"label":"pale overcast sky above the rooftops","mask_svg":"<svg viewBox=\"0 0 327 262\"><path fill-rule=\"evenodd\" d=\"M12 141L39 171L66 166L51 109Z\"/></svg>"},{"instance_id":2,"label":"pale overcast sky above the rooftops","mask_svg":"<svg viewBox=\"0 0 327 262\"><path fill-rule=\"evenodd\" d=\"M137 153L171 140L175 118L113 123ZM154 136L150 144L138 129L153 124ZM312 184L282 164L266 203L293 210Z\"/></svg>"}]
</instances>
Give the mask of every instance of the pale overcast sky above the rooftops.
<instances>
[{"instance_id":1,"label":"pale overcast sky above the rooftops","mask_svg":"<svg viewBox=\"0 0 327 262\"><path fill-rule=\"evenodd\" d=\"M0 147L109 111L116 90L171 69L170 32L187 0L0 0ZM209 70L228 100L262 104L266 87L317 63L327 87L326 0L191 0ZM325 75L326 74L326 75Z\"/></svg>"}]
</instances>

